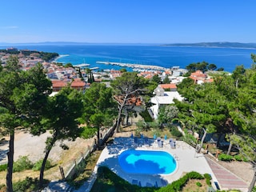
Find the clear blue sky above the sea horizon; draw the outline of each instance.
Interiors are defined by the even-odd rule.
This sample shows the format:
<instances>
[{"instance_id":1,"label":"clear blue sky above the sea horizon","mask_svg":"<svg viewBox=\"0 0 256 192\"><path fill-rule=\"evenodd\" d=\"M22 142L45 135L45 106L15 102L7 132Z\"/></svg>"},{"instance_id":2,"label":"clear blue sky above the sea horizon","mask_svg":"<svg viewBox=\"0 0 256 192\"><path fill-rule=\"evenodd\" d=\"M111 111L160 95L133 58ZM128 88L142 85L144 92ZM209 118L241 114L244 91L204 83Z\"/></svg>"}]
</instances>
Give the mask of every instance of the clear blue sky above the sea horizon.
<instances>
[{"instance_id":1,"label":"clear blue sky above the sea horizon","mask_svg":"<svg viewBox=\"0 0 256 192\"><path fill-rule=\"evenodd\" d=\"M1 1L0 42L256 42L255 0Z\"/></svg>"}]
</instances>

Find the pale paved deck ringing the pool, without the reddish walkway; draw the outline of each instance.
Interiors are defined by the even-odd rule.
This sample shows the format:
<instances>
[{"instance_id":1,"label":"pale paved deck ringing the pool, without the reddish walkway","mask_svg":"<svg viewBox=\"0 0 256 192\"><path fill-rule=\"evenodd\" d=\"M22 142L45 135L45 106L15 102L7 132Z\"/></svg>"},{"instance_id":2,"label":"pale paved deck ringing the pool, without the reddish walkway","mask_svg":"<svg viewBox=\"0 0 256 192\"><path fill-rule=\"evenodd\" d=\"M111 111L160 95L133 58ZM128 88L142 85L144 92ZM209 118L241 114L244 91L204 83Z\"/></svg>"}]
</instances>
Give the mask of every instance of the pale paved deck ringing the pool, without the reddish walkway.
<instances>
[{"instance_id":1,"label":"pale paved deck ringing the pool, without the reddish walkway","mask_svg":"<svg viewBox=\"0 0 256 192\"><path fill-rule=\"evenodd\" d=\"M166 151L175 158L177 168L171 174L128 174L119 166L118 154L129 149ZM166 186L166 184L174 182L178 178L181 178L182 175L193 170L200 174L211 174L213 180L216 181L204 154L197 154L192 146L182 141L177 141L176 147L171 148L169 140L164 140L163 146L161 147L154 140L149 145L145 142L134 143L130 138L115 138L112 145L102 150L95 171L98 169L98 166L108 166L110 170L126 179L126 181L134 184L137 182L141 186Z\"/></svg>"}]
</instances>

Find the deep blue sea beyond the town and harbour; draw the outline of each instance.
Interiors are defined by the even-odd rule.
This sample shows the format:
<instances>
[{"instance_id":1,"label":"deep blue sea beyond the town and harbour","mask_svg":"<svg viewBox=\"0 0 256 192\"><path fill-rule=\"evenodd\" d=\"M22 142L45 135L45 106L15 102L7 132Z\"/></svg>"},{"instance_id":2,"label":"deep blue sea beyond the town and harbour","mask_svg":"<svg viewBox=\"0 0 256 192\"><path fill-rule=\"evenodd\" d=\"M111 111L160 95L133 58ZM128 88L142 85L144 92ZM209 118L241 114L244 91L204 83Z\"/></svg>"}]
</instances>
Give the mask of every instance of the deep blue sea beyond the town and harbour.
<instances>
[{"instance_id":1,"label":"deep blue sea beyond the town and harbour","mask_svg":"<svg viewBox=\"0 0 256 192\"><path fill-rule=\"evenodd\" d=\"M55 52L60 55L55 62L73 65L90 64L90 68L98 70L120 70L121 66L100 64L97 62L122 62L140 65L162 66L171 68L179 66L184 69L190 63L208 62L225 71L232 72L236 66L250 68L253 63L250 54L256 54L256 49L221 48L197 46L159 46L159 45L112 45L112 44L78 44L78 45L12 45L19 50L39 50ZM10 46L0 46L6 49ZM127 69L132 70L131 68Z\"/></svg>"}]
</instances>

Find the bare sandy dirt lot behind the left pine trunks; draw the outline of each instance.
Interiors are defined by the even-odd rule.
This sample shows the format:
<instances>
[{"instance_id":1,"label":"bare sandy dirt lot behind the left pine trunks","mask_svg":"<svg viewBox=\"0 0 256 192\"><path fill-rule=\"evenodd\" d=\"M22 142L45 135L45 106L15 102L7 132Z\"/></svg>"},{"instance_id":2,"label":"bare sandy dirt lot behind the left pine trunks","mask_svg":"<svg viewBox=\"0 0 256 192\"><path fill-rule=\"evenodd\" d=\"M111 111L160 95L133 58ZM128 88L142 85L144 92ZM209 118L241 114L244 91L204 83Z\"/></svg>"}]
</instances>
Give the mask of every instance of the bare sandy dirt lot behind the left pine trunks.
<instances>
[{"instance_id":1,"label":"bare sandy dirt lot behind the left pine trunks","mask_svg":"<svg viewBox=\"0 0 256 192\"><path fill-rule=\"evenodd\" d=\"M20 156L28 156L30 161L37 162L39 159L44 157L44 148L46 138L50 136L50 133L42 134L40 137L32 136L31 134L19 131L15 134L14 141L14 161ZM0 163L4 164L7 162L6 153L9 146L9 138L2 140L0 144ZM77 138L74 142L65 141L64 143L69 146L69 150L62 150L59 146L60 142L57 142L53 149L50 151L48 157L52 161L52 164L62 166L64 173L69 170L70 166L74 164L74 159L81 158L81 153L88 150L88 146L94 142L94 138L82 139ZM51 180L61 179L61 174L58 166L54 166L50 170L46 170L45 178ZM38 171L26 170L25 172L15 172L13 175L13 181L25 179L26 176L36 178L39 176ZM0 184L6 182L6 172L0 172Z\"/></svg>"}]
</instances>

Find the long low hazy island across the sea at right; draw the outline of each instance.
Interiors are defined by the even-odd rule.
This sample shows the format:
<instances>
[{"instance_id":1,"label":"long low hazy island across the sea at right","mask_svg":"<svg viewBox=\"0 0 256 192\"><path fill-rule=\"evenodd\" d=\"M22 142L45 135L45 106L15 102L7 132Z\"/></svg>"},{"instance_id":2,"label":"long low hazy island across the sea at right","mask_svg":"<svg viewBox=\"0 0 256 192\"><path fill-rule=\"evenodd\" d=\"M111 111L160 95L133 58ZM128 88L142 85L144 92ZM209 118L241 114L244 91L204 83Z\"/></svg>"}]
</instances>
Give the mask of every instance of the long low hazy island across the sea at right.
<instances>
[{"instance_id":1,"label":"long low hazy island across the sea at right","mask_svg":"<svg viewBox=\"0 0 256 192\"><path fill-rule=\"evenodd\" d=\"M204 46L204 47L234 47L256 49L256 43L242 42L196 42L196 43L170 43L162 46Z\"/></svg>"}]
</instances>

